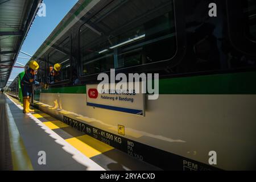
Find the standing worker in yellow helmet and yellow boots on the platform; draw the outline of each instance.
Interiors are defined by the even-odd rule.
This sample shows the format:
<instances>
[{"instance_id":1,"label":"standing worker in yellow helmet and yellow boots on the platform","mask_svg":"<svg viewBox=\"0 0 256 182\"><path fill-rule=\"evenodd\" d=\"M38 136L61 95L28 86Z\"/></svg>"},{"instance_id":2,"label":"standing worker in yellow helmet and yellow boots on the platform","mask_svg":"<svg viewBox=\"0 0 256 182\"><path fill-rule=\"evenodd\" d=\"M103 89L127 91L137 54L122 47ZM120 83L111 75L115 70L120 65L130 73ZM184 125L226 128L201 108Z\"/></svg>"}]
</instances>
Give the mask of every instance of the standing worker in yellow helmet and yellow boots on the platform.
<instances>
[{"instance_id":1,"label":"standing worker in yellow helmet and yellow boots on the platform","mask_svg":"<svg viewBox=\"0 0 256 182\"><path fill-rule=\"evenodd\" d=\"M38 63L32 60L28 62L28 69L21 80L22 96L23 96L23 113L30 113L34 110L30 109L30 98L32 95L32 86L39 85L38 81L35 81L35 75L39 68Z\"/></svg>"}]
</instances>

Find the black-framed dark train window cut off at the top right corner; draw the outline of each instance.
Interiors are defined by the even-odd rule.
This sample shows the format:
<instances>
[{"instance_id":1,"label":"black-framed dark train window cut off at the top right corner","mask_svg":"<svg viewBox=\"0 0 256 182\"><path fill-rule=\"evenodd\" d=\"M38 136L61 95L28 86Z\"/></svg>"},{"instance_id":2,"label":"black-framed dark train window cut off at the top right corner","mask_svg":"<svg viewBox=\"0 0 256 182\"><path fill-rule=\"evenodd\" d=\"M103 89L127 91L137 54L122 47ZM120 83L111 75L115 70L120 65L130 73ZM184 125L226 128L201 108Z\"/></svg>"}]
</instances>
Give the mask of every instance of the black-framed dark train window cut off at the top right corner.
<instances>
[{"instance_id":1,"label":"black-framed dark train window cut off at the top right corner","mask_svg":"<svg viewBox=\"0 0 256 182\"><path fill-rule=\"evenodd\" d=\"M226 1L232 68L255 67L256 2L251 0ZM228 48L228 47L227 47ZM230 56L229 56L230 57Z\"/></svg>"}]
</instances>

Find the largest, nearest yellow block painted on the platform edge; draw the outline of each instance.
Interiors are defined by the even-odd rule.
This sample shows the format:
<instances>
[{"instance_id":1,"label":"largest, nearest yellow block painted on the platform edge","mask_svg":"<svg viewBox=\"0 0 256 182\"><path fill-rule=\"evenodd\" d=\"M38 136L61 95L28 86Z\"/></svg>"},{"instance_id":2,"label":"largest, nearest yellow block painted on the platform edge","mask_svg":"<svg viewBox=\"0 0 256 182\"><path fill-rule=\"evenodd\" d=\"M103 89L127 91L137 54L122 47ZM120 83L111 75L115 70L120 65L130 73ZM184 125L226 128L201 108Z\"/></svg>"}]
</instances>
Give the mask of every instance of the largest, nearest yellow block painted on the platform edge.
<instances>
[{"instance_id":1,"label":"largest, nearest yellow block painted on the platform edge","mask_svg":"<svg viewBox=\"0 0 256 182\"><path fill-rule=\"evenodd\" d=\"M82 154L88 156L88 158L92 158L93 156L114 149L114 147L100 142L99 140L92 138L89 135L82 135L80 137L74 137L65 140L77 150L82 152Z\"/></svg>"}]
</instances>

